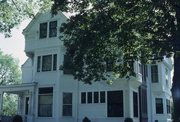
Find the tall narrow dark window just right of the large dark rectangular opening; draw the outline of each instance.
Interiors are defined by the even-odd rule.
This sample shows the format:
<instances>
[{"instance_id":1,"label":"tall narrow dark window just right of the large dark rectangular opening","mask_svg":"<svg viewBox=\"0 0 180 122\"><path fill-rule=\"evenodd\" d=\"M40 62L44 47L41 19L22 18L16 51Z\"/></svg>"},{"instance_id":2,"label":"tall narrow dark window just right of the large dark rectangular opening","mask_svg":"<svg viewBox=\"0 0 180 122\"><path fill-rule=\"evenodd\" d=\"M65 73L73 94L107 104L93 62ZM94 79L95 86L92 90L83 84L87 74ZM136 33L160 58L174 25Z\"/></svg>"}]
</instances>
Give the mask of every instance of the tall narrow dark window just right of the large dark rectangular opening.
<instances>
[{"instance_id":1,"label":"tall narrow dark window just right of the large dark rectangular opening","mask_svg":"<svg viewBox=\"0 0 180 122\"><path fill-rule=\"evenodd\" d=\"M134 117L138 117L138 94L133 92L133 113Z\"/></svg>"}]
</instances>

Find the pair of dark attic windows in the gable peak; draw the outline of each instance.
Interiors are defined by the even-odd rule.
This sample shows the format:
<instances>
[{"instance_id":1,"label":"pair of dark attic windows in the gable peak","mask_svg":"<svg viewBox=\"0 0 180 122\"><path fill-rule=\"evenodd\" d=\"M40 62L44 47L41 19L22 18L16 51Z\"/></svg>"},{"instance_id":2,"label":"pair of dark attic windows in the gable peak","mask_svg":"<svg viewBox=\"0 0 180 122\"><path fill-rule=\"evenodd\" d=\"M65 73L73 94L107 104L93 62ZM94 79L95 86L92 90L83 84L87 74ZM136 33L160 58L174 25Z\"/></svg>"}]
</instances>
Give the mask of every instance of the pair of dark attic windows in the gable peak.
<instances>
[{"instance_id":1,"label":"pair of dark attic windows in the gable peak","mask_svg":"<svg viewBox=\"0 0 180 122\"><path fill-rule=\"evenodd\" d=\"M40 24L39 38L40 39L47 38L48 34L49 34L49 37L57 36L57 21L51 21L49 23L44 22Z\"/></svg>"}]
</instances>

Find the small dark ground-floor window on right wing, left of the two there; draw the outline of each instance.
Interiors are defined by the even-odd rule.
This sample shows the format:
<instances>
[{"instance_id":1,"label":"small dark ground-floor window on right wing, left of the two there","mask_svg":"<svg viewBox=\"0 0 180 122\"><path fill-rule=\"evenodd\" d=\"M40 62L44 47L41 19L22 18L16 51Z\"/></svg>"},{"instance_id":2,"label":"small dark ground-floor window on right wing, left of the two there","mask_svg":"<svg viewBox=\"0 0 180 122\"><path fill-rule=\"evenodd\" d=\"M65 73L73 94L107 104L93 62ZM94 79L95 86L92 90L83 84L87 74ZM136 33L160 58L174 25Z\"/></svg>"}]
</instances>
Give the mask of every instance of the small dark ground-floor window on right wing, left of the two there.
<instances>
[{"instance_id":1,"label":"small dark ground-floor window on right wing, left of the two there","mask_svg":"<svg viewBox=\"0 0 180 122\"><path fill-rule=\"evenodd\" d=\"M163 99L156 98L156 114L163 114Z\"/></svg>"}]
</instances>

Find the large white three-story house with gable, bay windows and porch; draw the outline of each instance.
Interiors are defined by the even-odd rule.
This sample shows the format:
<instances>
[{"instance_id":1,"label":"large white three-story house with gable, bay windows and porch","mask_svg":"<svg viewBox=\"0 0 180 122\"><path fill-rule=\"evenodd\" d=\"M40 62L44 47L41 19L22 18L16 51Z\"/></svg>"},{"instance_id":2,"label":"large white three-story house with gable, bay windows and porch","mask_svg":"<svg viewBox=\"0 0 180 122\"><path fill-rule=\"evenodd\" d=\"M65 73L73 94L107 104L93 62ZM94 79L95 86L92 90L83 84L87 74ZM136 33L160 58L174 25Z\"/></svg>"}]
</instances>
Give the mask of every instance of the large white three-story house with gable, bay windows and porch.
<instances>
[{"instance_id":1,"label":"large white three-story house with gable, bay windows and porch","mask_svg":"<svg viewBox=\"0 0 180 122\"><path fill-rule=\"evenodd\" d=\"M134 122L171 121L173 61L164 58L146 66L134 63L136 77L92 85L74 80L66 49L59 40L59 27L67 17L62 13L38 14L24 29L25 53L22 84L0 86L4 92L19 95L18 114L25 122ZM65 66L64 70L60 66Z\"/></svg>"}]
</instances>

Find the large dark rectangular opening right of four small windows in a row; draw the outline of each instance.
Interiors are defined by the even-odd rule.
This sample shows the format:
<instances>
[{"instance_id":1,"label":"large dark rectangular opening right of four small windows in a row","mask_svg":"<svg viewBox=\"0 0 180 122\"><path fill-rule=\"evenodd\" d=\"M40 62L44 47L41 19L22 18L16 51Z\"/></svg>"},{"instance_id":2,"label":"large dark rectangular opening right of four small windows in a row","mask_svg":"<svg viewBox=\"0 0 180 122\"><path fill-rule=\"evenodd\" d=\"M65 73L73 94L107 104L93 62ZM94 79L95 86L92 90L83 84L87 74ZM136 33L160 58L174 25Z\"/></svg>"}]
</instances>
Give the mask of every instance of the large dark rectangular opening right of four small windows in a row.
<instances>
[{"instance_id":1,"label":"large dark rectangular opening right of four small windows in a row","mask_svg":"<svg viewBox=\"0 0 180 122\"><path fill-rule=\"evenodd\" d=\"M107 92L108 117L123 117L123 91Z\"/></svg>"}]
</instances>

